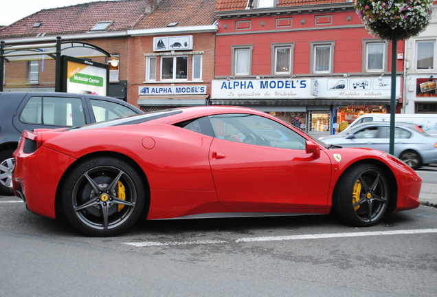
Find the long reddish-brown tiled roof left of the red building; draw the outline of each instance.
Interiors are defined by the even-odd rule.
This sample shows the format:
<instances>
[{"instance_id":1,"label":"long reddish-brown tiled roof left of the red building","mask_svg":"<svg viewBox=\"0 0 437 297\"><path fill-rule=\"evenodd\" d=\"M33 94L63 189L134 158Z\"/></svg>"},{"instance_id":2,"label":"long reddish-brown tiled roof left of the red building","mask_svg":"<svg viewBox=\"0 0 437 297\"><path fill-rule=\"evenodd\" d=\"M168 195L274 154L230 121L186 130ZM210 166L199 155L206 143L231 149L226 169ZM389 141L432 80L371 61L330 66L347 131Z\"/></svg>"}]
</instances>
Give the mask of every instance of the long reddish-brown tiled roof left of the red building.
<instances>
[{"instance_id":1,"label":"long reddish-brown tiled roof left of the red building","mask_svg":"<svg viewBox=\"0 0 437 297\"><path fill-rule=\"evenodd\" d=\"M216 0L98 1L41 10L0 29L0 40L84 34L99 21L113 22L106 32L135 28L163 28L168 23L211 25ZM146 12L146 14L145 14ZM41 23L34 27L35 23ZM137 25L138 24L138 25Z\"/></svg>"}]
</instances>

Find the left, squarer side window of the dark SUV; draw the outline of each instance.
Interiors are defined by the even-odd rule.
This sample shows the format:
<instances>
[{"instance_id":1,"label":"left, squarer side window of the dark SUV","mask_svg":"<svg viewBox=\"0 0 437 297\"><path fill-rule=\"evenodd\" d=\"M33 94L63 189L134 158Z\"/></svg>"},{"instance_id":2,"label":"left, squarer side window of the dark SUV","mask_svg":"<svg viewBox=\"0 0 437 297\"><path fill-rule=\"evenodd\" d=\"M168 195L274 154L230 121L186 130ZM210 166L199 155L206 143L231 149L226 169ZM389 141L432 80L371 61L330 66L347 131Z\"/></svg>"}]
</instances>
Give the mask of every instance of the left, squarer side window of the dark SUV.
<instances>
[{"instance_id":1,"label":"left, squarer side window of the dark SUV","mask_svg":"<svg viewBox=\"0 0 437 297\"><path fill-rule=\"evenodd\" d=\"M46 124L53 126L82 126L85 114L80 98L32 97L20 115L26 124Z\"/></svg>"}]
</instances>

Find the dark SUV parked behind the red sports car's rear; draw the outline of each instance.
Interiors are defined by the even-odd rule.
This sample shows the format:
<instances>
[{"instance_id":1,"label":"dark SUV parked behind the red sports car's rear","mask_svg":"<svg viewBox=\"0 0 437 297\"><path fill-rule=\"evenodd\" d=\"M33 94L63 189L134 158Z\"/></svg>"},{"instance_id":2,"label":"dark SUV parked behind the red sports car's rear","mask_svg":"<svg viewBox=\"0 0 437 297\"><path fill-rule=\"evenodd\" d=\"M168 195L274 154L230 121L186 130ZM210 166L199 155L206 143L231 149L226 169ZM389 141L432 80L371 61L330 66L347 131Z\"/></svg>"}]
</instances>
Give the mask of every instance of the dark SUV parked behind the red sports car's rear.
<instances>
[{"instance_id":1,"label":"dark SUV parked behind the red sports car's rear","mask_svg":"<svg viewBox=\"0 0 437 297\"><path fill-rule=\"evenodd\" d=\"M23 130L82 126L142 112L127 102L103 96L0 92L0 195L13 195L12 153Z\"/></svg>"}]
</instances>

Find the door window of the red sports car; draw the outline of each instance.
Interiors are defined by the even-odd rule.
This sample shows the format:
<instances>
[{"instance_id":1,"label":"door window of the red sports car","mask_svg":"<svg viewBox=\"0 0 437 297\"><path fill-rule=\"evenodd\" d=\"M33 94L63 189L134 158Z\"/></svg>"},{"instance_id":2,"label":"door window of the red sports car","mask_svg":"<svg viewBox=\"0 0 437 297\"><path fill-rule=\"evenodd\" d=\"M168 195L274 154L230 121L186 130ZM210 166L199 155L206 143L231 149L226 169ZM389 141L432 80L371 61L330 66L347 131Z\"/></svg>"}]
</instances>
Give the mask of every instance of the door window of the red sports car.
<instances>
[{"instance_id":1,"label":"door window of the red sports car","mask_svg":"<svg viewBox=\"0 0 437 297\"><path fill-rule=\"evenodd\" d=\"M276 121L259 115L210 116L214 135L222 140L260 146L305 149L305 138Z\"/></svg>"}]
</instances>

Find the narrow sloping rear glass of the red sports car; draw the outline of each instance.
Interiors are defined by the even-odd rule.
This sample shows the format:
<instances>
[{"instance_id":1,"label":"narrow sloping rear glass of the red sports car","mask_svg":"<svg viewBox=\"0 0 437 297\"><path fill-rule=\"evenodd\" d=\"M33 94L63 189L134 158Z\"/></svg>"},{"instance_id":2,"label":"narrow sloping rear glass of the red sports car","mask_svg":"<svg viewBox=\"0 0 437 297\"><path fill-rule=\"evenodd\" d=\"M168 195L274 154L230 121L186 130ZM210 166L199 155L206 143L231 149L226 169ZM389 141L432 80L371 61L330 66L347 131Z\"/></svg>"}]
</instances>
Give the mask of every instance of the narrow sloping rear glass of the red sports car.
<instances>
[{"instance_id":1,"label":"narrow sloping rear glass of the red sports car","mask_svg":"<svg viewBox=\"0 0 437 297\"><path fill-rule=\"evenodd\" d=\"M98 122L94 124L87 124L85 126L77 126L70 130L86 130L86 129L96 129L96 128L104 128L109 126L122 126L128 124L139 124L142 122L148 122L150 120L156 120L158 118L165 118L169 115L175 115L177 113L181 113L180 109L166 109L164 111L151 111L148 113L142 113L139 115L129 115L124 118L117 118L115 120L107 120L104 122Z\"/></svg>"}]
</instances>

